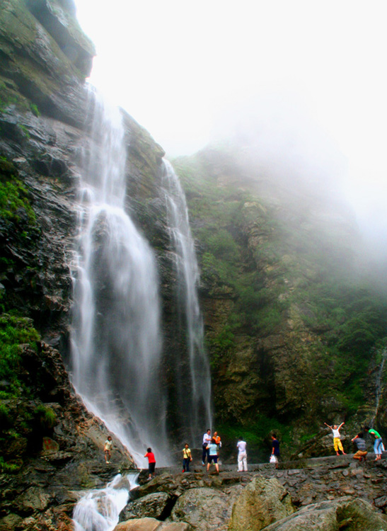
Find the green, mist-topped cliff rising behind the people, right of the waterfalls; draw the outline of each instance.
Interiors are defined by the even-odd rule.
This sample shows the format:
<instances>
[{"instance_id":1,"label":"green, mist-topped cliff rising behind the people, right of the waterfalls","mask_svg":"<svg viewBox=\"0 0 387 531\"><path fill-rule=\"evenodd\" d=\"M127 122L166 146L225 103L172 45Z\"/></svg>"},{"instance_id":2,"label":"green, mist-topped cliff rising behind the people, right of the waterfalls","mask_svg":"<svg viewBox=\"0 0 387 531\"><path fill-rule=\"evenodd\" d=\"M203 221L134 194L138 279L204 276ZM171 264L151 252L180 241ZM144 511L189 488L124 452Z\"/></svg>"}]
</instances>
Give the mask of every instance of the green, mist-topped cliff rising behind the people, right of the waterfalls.
<instances>
[{"instance_id":1,"label":"green, mist-topped cliff rising behind the people, right of the waterfalls","mask_svg":"<svg viewBox=\"0 0 387 531\"><path fill-rule=\"evenodd\" d=\"M330 452L324 421L351 434L375 415L386 336L386 291L367 278L354 217L332 182L270 174L248 144L174 165L198 243L216 426L260 450L275 430L285 455Z\"/></svg>"}]
</instances>

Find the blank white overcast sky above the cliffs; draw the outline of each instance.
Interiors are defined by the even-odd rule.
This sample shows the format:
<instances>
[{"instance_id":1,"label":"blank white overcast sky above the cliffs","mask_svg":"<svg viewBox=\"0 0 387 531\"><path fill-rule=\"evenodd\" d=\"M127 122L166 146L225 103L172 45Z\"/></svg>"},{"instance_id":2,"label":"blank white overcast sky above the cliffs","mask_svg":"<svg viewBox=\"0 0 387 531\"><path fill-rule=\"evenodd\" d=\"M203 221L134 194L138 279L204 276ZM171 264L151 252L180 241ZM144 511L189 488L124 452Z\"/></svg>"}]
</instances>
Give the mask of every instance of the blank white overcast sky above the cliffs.
<instances>
[{"instance_id":1,"label":"blank white overcast sky above the cliffs","mask_svg":"<svg viewBox=\"0 0 387 531\"><path fill-rule=\"evenodd\" d=\"M378 208L386 220L384 0L76 0L76 6L97 48L91 82L167 155L197 151L250 108L258 119L265 109L270 122L273 109L270 128L279 135L313 123L311 135L329 137L347 158L358 212L372 217ZM308 134L306 128L301 137Z\"/></svg>"}]
</instances>

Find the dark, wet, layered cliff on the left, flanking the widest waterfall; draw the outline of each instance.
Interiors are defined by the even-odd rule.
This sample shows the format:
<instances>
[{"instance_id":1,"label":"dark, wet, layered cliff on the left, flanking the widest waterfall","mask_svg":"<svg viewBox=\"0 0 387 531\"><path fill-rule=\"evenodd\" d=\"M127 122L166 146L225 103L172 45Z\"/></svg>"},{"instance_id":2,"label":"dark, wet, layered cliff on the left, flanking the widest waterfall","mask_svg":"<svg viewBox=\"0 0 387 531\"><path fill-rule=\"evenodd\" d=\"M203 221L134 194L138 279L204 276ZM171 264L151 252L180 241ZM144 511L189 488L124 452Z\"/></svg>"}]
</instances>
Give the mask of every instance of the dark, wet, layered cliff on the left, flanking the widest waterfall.
<instances>
[{"instance_id":1,"label":"dark, wet, layered cliff on the left, flanking the widest waterfall","mask_svg":"<svg viewBox=\"0 0 387 531\"><path fill-rule=\"evenodd\" d=\"M4 0L0 9L0 469L7 486L0 528L7 530L70 528L77 491L134 466L114 435L105 464L108 430L76 397L62 362L81 154L91 142L84 81L94 55L74 13L70 0ZM165 243L157 191L163 150L129 115L125 129L128 207L147 219L150 239ZM148 217L156 215L155 229Z\"/></svg>"}]
</instances>

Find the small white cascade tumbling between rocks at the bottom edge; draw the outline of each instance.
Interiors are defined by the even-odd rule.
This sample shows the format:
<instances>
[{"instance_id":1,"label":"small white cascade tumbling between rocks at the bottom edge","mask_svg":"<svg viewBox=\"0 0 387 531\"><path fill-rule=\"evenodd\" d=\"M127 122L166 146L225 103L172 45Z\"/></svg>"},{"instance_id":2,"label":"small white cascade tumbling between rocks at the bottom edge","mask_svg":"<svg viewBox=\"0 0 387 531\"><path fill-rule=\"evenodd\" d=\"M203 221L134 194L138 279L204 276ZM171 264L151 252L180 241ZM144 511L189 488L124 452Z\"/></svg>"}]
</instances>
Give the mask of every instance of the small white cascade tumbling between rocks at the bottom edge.
<instances>
[{"instance_id":1,"label":"small white cascade tumbling between rocks at the bottom edge","mask_svg":"<svg viewBox=\"0 0 387 531\"><path fill-rule=\"evenodd\" d=\"M138 475L122 478L117 474L105 489L86 493L74 508L74 531L112 531L127 504L129 491L137 486Z\"/></svg>"}]
</instances>

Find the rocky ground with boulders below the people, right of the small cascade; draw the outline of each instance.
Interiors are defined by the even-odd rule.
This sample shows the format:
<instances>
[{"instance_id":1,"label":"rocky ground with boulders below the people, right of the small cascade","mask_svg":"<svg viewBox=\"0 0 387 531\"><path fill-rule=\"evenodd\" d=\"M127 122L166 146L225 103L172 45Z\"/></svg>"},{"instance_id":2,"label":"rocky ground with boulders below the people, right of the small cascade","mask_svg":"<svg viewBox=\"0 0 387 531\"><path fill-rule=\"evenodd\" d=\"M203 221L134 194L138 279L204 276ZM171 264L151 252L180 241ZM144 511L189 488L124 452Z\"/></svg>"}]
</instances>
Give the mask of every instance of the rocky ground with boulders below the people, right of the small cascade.
<instances>
[{"instance_id":1,"label":"rocky ground with boulders below the people, right of the small cascade","mask_svg":"<svg viewBox=\"0 0 387 531\"><path fill-rule=\"evenodd\" d=\"M115 531L387 530L387 461L371 459L227 466L220 474L161 469L149 482L141 473Z\"/></svg>"}]
</instances>

